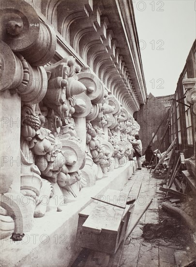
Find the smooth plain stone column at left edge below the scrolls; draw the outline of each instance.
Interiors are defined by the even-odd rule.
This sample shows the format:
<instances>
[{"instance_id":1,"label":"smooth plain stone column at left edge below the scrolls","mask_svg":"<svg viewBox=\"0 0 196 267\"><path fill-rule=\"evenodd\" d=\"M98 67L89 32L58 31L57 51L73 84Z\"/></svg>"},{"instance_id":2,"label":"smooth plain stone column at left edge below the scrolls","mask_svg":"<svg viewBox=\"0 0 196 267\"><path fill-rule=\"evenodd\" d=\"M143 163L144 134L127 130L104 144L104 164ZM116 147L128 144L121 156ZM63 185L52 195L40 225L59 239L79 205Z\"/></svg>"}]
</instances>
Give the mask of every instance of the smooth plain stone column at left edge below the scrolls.
<instances>
[{"instance_id":1,"label":"smooth plain stone column at left edge below the scrolls","mask_svg":"<svg viewBox=\"0 0 196 267\"><path fill-rule=\"evenodd\" d=\"M0 193L20 192L20 117L21 99L9 90L0 93L1 178Z\"/></svg>"}]
</instances>

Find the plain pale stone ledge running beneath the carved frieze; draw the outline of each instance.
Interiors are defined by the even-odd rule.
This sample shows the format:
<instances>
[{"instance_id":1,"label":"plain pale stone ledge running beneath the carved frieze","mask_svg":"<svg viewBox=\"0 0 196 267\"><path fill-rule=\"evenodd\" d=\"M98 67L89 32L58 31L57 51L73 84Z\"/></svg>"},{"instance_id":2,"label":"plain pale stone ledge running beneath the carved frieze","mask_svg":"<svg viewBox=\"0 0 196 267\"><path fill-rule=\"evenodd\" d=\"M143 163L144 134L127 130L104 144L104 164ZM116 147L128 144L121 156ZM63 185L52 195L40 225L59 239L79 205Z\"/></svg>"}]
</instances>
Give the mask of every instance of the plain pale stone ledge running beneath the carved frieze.
<instances>
[{"instance_id":1,"label":"plain pale stone ledge running beneath the carved frieze","mask_svg":"<svg viewBox=\"0 0 196 267\"><path fill-rule=\"evenodd\" d=\"M51 210L45 217L34 218L33 228L22 241L2 239L1 266L67 267L80 250L75 247L78 213L90 204L90 197L104 194L108 188L120 190L135 170L136 162L128 161L95 185L83 188L74 202L61 206L62 212Z\"/></svg>"}]
</instances>

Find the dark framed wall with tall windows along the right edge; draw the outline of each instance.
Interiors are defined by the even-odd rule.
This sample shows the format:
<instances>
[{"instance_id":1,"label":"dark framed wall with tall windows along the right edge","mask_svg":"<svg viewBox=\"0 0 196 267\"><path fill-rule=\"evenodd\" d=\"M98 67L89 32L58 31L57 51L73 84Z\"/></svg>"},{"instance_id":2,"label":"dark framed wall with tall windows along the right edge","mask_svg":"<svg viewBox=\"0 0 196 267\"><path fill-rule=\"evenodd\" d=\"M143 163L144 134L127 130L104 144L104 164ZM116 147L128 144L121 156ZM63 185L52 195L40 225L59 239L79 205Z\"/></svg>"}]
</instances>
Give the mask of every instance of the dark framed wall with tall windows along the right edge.
<instances>
[{"instance_id":1,"label":"dark framed wall with tall windows along the right edge","mask_svg":"<svg viewBox=\"0 0 196 267\"><path fill-rule=\"evenodd\" d=\"M174 100L171 106L170 120L170 142L177 136L177 148L184 152L185 158L194 156L194 110L192 98L189 99L189 86L187 81L196 78L196 41L194 42L186 64L179 77ZM188 80L187 80L188 79ZM186 84L187 83L187 84ZM192 84L190 85L192 86ZM193 86L194 87L194 86ZM193 89L193 88L191 88Z\"/></svg>"}]
</instances>

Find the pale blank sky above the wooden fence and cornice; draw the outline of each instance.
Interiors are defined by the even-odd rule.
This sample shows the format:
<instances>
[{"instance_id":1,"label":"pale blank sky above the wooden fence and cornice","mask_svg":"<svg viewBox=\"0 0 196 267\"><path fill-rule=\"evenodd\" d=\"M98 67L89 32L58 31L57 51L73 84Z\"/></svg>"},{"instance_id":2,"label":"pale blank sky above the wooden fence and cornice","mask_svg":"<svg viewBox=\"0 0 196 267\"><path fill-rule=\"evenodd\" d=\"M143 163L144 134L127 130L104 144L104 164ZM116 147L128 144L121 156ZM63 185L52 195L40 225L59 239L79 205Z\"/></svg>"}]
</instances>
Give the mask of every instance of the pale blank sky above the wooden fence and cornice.
<instances>
[{"instance_id":1,"label":"pale blank sky above the wooden fence and cornice","mask_svg":"<svg viewBox=\"0 0 196 267\"><path fill-rule=\"evenodd\" d=\"M196 39L196 0L133 0L147 93L173 94Z\"/></svg>"}]
</instances>

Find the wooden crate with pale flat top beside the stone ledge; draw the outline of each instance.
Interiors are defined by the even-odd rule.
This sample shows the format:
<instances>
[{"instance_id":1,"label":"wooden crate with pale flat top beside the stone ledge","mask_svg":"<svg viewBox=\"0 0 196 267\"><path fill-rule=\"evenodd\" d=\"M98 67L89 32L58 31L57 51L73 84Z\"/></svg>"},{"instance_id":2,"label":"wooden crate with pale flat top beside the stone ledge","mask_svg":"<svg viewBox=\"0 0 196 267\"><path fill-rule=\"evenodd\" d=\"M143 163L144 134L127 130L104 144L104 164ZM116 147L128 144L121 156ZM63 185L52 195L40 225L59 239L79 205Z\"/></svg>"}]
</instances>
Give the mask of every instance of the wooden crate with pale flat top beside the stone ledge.
<instances>
[{"instance_id":1,"label":"wooden crate with pale flat top beside the stone ledge","mask_svg":"<svg viewBox=\"0 0 196 267\"><path fill-rule=\"evenodd\" d=\"M125 204L124 207L111 206L97 200L91 202L79 213L76 245L114 254L126 236L134 210L134 205Z\"/></svg>"}]
</instances>

